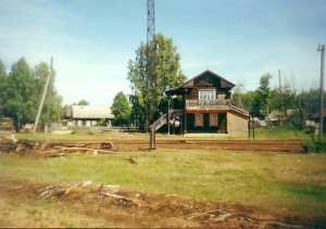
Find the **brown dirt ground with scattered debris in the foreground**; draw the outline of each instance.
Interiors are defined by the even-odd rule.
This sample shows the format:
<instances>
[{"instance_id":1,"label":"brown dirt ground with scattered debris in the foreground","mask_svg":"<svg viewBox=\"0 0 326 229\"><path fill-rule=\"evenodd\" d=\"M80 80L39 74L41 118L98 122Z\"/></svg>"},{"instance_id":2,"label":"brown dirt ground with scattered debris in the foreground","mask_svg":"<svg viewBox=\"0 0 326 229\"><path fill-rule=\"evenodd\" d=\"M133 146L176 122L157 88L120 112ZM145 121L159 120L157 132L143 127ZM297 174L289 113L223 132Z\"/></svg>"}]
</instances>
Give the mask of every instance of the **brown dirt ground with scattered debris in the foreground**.
<instances>
[{"instance_id":1,"label":"brown dirt ground with scattered debris in the foreground","mask_svg":"<svg viewBox=\"0 0 326 229\"><path fill-rule=\"evenodd\" d=\"M55 188L57 187L57 188ZM61 194L46 195L63 188ZM45 191L46 190L46 191ZM109 194L105 194L109 193ZM0 227L305 228L313 219L241 203L195 201L177 195L109 190L99 185L0 180Z\"/></svg>"}]
</instances>

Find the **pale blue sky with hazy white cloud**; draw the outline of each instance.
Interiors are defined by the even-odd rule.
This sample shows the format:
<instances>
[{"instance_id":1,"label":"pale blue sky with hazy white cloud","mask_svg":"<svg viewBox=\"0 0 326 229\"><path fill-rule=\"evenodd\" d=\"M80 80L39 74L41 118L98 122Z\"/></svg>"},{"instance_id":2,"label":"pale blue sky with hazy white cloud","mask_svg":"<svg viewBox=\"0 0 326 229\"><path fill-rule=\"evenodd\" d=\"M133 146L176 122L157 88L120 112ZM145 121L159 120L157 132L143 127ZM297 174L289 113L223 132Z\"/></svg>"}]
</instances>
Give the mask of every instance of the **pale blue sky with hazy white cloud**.
<instances>
[{"instance_id":1,"label":"pale blue sky with hazy white cloud","mask_svg":"<svg viewBox=\"0 0 326 229\"><path fill-rule=\"evenodd\" d=\"M155 0L155 30L172 38L188 79L210 69L255 90L271 73L297 90L319 87L325 0ZM64 104L112 105L130 93L127 63L147 39L147 0L0 0L0 60L53 56Z\"/></svg>"}]
</instances>

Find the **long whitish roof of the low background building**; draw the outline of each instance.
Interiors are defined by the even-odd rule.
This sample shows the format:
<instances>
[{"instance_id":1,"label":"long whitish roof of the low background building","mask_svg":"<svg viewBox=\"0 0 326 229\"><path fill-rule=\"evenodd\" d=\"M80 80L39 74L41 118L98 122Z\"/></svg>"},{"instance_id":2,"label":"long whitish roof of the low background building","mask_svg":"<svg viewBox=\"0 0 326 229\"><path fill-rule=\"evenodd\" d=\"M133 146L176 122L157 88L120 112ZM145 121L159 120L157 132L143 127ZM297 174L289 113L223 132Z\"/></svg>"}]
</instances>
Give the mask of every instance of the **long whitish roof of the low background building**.
<instances>
[{"instance_id":1,"label":"long whitish roof of the low background building","mask_svg":"<svg viewBox=\"0 0 326 229\"><path fill-rule=\"evenodd\" d=\"M71 105L66 107L66 116L75 119L113 118L110 106Z\"/></svg>"}]
</instances>

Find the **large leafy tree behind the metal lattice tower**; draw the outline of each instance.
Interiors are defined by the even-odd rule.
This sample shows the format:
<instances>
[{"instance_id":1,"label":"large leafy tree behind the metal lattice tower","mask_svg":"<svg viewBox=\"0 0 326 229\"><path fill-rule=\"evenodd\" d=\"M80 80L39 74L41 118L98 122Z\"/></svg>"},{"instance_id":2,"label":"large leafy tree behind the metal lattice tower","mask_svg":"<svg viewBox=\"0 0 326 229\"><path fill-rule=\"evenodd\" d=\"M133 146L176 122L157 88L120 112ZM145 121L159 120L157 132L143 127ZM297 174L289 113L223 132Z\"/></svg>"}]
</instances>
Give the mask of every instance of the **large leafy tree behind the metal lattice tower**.
<instances>
[{"instance_id":1,"label":"large leafy tree behind the metal lattice tower","mask_svg":"<svg viewBox=\"0 0 326 229\"><path fill-rule=\"evenodd\" d=\"M155 36L155 68L154 77L147 77L148 44L140 43L136 50L136 60L128 62L128 80L133 94L133 114L137 114L139 123L145 123L148 104L148 119L153 122L164 99L164 90L183 84L186 79L180 69L180 56L173 39L159 34ZM135 102L135 103L134 103Z\"/></svg>"}]
</instances>

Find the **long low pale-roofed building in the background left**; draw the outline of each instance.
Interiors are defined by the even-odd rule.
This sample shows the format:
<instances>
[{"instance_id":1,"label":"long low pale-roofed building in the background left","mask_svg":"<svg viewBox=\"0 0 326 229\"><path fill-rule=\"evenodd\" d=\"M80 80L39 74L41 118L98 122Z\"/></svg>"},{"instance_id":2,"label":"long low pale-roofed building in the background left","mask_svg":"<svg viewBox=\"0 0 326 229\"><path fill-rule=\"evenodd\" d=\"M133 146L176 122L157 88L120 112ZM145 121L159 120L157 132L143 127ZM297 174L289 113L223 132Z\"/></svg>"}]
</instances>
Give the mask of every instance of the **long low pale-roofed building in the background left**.
<instances>
[{"instance_id":1,"label":"long low pale-roofed building in the background left","mask_svg":"<svg viewBox=\"0 0 326 229\"><path fill-rule=\"evenodd\" d=\"M70 105L63 111L63 123L66 126L96 126L101 119L113 119L110 106Z\"/></svg>"}]
</instances>

